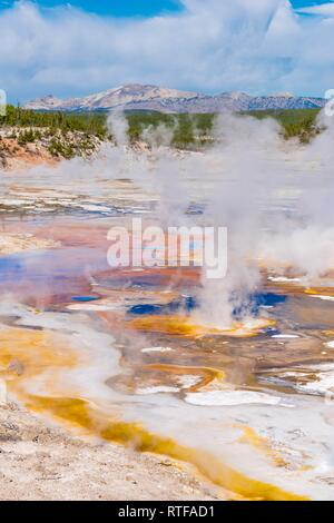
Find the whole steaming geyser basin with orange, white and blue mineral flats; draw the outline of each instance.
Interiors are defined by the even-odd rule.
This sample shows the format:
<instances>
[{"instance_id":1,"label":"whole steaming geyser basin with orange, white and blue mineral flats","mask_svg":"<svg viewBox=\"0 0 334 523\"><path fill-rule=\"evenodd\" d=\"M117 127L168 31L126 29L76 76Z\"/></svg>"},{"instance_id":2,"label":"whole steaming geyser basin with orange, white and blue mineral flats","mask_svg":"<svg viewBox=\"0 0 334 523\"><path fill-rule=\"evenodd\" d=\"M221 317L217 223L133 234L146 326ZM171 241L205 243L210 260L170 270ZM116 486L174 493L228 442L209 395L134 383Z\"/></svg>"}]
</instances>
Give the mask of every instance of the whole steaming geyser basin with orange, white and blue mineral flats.
<instances>
[{"instance_id":1,"label":"whole steaming geyser basin with orange, white and blue mineral flats","mask_svg":"<svg viewBox=\"0 0 334 523\"><path fill-rule=\"evenodd\" d=\"M333 388L333 304L318 297L334 295L331 134L296 149L274 122L225 116L203 154L110 147L90 164L24 178L30 191L16 205L38 220L16 221L10 208L3 227L49 231L55 248L1 258L10 389L71 427L188 461L234 496L333 496L321 472L333 467L323 401ZM38 190L43 176L63 182L61 206ZM194 203L202 214L188 213ZM138 210L164 226L227 227L226 278L198 267L110 268L107 231ZM255 307L261 293L284 299ZM181 295L197 308L130 314ZM73 299L85 296L95 300Z\"/></svg>"}]
</instances>

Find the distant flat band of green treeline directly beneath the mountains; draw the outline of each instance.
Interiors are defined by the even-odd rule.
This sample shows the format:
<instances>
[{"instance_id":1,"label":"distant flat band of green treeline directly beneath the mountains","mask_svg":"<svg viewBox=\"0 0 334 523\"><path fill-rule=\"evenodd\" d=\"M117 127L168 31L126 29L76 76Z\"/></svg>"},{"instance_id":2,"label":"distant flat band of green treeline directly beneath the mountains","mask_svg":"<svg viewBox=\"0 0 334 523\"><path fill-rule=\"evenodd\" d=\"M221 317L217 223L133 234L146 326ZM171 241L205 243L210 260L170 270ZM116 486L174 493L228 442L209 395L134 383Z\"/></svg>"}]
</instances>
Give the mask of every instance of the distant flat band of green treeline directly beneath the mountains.
<instances>
[{"instance_id":1,"label":"distant flat band of green treeline directly beneath the mountains","mask_svg":"<svg viewBox=\"0 0 334 523\"><path fill-rule=\"evenodd\" d=\"M320 130L315 125L317 109L296 109L279 111L250 112L258 119L273 117L283 128L285 138L296 137L307 142ZM170 129L171 142L175 147L203 147L212 140L215 115L166 115L159 112L128 112L129 138L137 141L145 130L158 129L165 125ZM7 116L0 117L0 127L48 128L50 134L80 131L87 136L107 138L106 112L39 112L9 106ZM158 136L158 132L156 134Z\"/></svg>"}]
</instances>

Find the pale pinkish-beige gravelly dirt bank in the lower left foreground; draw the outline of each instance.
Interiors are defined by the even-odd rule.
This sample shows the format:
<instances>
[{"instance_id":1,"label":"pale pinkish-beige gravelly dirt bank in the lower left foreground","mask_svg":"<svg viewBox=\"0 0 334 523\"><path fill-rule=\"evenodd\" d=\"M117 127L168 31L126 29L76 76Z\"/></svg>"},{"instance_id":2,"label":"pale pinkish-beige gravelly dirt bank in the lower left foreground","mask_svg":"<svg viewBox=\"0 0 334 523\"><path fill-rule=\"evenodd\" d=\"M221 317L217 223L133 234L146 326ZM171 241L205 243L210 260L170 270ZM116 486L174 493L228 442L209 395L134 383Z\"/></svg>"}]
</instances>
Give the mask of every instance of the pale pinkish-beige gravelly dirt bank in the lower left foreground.
<instances>
[{"instance_id":1,"label":"pale pinkish-beige gravelly dirt bank in the lower left foreground","mask_svg":"<svg viewBox=\"0 0 334 523\"><path fill-rule=\"evenodd\" d=\"M13 403L0 406L1 501L217 500L223 495L164 456L75 437Z\"/></svg>"}]
</instances>

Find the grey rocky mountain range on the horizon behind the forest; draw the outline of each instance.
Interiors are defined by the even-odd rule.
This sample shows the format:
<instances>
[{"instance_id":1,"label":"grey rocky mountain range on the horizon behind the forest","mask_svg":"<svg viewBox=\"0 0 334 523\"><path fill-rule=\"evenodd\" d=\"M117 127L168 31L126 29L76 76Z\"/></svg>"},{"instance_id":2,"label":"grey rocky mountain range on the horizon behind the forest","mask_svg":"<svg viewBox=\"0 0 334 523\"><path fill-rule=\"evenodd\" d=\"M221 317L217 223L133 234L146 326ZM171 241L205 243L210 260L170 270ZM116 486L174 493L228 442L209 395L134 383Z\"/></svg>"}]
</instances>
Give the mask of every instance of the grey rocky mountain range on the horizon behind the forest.
<instances>
[{"instance_id":1,"label":"grey rocky mountain range on the horizon behind the forest","mask_svg":"<svg viewBox=\"0 0 334 523\"><path fill-rule=\"evenodd\" d=\"M203 95L150 85L130 83L84 98L60 99L49 95L26 103L26 109L40 111L91 112L110 110L159 112L224 112L322 108L323 98L295 97L288 92L250 96L245 92Z\"/></svg>"}]
</instances>

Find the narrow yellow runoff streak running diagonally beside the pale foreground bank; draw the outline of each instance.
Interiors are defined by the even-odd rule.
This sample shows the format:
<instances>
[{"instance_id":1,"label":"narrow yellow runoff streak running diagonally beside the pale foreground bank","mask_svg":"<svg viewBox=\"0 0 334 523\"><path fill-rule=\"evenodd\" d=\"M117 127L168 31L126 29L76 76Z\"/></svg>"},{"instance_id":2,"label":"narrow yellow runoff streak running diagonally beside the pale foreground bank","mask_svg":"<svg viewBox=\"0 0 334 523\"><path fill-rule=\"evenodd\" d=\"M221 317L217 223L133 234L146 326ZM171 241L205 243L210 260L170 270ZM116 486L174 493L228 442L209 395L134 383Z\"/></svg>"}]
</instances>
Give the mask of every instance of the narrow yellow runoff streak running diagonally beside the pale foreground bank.
<instances>
[{"instance_id":1,"label":"narrow yellow runoff streak running diagonally beside the pale foreground bank","mask_svg":"<svg viewBox=\"0 0 334 523\"><path fill-rule=\"evenodd\" d=\"M194 465L200 474L216 485L258 501L306 501L307 497L286 492L274 485L253 480L224 465L208 452L179 445L171 438L149 433L139 424L110 421L104 413L91 409L88 402L79 398L30 397L31 408L51 413L60 420L71 421L104 440L120 443L138 452L163 454Z\"/></svg>"}]
</instances>

